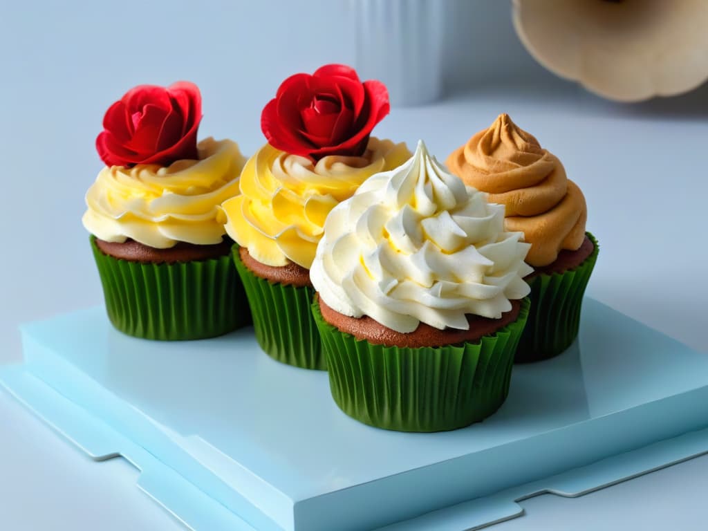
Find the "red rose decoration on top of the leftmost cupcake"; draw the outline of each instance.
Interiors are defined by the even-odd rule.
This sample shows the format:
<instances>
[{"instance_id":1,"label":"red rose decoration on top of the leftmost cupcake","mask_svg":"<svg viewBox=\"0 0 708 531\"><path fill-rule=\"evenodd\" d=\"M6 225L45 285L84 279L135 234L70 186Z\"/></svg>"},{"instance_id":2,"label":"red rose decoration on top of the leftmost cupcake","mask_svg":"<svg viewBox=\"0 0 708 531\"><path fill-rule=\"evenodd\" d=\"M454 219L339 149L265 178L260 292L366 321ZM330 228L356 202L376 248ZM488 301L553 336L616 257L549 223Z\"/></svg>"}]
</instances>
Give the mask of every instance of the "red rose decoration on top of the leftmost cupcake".
<instances>
[{"instance_id":1,"label":"red rose decoration on top of the leftmost cupcake","mask_svg":"<svg viewBox=\"0 0 708 531\"><path fill-rule=\"evenodd\" d=\"M106 111L96 138L98 156L107 166L128 167L197 159L201 119L202 95L195 84L136 86Z\"/></svg>"}]
</instances>

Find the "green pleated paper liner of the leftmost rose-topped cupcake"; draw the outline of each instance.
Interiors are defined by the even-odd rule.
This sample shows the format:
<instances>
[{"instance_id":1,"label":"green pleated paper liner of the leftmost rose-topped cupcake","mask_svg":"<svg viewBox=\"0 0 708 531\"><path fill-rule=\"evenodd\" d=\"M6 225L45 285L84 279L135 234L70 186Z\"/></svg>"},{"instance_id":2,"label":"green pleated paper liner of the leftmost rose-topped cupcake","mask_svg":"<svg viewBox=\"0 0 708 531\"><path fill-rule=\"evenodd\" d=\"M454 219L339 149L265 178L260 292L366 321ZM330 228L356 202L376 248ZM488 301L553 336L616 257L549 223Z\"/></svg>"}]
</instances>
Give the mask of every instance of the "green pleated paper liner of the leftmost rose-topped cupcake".
<instances>
[{"instance_id":1,"label":"green pleated paper liner of the leftmost rose-topped cupcake","mask_svg":"<svg viewBox=\"0 0 708 531\"><path fill-rule=\"evenodd\" d=\"M246 295L225 255L210 260L139 263L108 256L91 236L105 309L116 329L144 339L221 336L249 324Z\"/></svg>"}]
</instances>

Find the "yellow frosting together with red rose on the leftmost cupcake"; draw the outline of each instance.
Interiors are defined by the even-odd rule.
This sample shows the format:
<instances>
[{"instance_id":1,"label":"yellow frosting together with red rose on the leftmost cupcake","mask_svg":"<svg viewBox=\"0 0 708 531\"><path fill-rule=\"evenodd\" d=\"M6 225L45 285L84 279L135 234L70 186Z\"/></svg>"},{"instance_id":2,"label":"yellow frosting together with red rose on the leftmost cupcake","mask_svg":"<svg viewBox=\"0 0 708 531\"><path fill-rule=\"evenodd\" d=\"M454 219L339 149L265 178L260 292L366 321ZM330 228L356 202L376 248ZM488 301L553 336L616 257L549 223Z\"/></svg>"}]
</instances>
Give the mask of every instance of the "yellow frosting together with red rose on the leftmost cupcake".
<instances>
[{"instance_id":1,"label":"yellow frosting together with red rose on the leftmost cupcake","mask_svg":"<svg viewBox=\"0 0 708 531\"><path fill-rule=\"evenodd\" d=\"M103 241L156 249L218 244L219 205L239 193L246 158L231 140L197 143L197 86L137 86L103 119L96 147L106 167L86 193L84 227Z\"/></svg>"}]
</instances>

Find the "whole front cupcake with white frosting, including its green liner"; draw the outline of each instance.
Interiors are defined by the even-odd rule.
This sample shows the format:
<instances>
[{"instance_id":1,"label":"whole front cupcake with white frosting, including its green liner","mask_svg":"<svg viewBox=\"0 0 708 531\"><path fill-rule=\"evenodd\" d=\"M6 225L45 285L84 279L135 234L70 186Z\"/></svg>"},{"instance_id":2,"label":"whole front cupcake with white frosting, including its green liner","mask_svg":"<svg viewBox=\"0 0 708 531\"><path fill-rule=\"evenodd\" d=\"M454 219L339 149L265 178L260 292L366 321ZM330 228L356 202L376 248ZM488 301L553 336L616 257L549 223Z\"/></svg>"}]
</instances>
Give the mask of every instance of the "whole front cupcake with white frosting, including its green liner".
<instances>
[{"instance_id":1,"label":"whole front cupcake with white frosting, including its green liner","mask_svg":"<svg viewBox=\"0 0 708 531\"><path fill-rule=\"evenodd\" d=\"M523 233L503 225L503 205L447 173L423 142L330 212L312 312L342 411L429 432L501 406L531 271Z\"/></svg>"}]
</instances>

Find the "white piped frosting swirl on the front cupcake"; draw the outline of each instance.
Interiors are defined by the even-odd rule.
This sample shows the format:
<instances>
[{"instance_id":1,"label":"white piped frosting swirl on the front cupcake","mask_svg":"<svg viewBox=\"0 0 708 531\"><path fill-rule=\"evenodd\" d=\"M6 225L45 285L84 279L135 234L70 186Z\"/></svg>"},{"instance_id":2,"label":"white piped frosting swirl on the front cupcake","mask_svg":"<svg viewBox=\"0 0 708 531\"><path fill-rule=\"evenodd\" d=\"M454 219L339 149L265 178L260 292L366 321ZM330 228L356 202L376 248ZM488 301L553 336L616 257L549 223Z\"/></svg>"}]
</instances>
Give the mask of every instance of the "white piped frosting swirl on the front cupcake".
<instances>
[{"instance_id":1,"label":"white piped frosting swirl on the front cupcake","mask_svg":"<svg viewBox=\"0 0 708 531\"><path fill-rule=\"evenodd\" d=\"M530 247L504 231L504 207L445 171L423 142L330 212L310 279L331 309L401 333L469 329L530 289Z\"/></svg>"}]
</instances>

